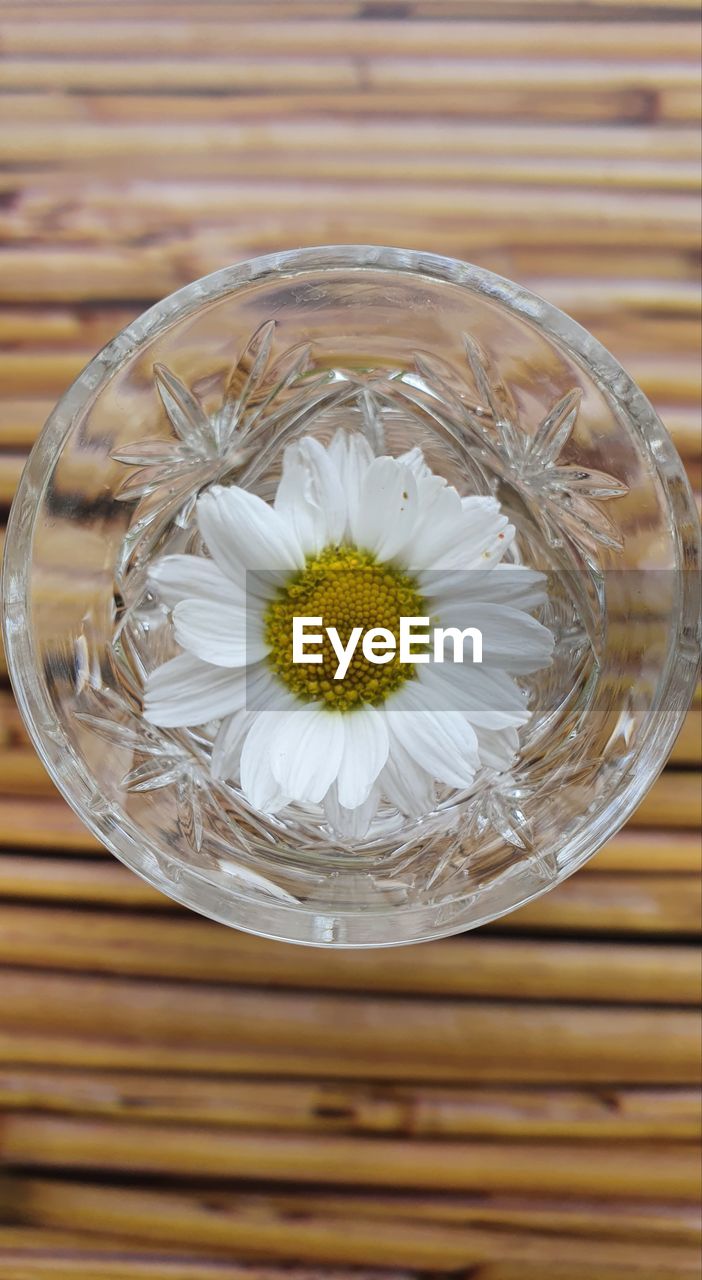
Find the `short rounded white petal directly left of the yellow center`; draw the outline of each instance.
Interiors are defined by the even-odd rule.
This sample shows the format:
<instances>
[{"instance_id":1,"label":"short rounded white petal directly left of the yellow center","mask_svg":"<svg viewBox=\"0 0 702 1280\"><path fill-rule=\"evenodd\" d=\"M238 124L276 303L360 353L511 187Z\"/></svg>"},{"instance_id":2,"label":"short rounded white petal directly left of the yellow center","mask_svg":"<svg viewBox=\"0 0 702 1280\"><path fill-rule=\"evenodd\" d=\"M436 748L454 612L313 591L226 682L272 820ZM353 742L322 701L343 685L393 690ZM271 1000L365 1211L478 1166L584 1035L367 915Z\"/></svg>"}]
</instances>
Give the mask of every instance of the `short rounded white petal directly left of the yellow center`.
<instances>
[{"instance_id":1,"label":"short rounded white petal directly left of the yellow center","mask_svg":"<svg viewBox=\"0 0 702 1280\"><path fill-rule=\"evenodd\" d=\"M260 614L242 604L182 600L173 611L173 628L183 649L216 667L245 667L268 653Z\"/></svg>"}]
</instances>

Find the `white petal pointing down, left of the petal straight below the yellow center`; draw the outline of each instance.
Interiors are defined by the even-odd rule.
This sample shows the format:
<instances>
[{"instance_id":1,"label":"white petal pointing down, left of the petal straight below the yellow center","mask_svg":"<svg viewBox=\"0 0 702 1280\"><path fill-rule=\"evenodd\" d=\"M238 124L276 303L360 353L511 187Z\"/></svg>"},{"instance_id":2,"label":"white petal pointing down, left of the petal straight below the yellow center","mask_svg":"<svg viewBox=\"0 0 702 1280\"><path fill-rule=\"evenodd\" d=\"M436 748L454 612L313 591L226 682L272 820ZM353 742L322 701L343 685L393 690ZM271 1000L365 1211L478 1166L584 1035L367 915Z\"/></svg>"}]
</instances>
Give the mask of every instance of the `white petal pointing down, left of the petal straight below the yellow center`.
<instances>
[{"instance_id":1,"label":"white petal pointing down, left of the petal straight below the yellow center","mask_svg":"<svg viewBox=\"0 0 702 1280\"><path fill-rule=\"evenodd\" d=\"M270 768L281 791L302 803L323 800L337 777L343 739L342 712L320 703L301 705L279 717Z\"/></svg>"}]
</instances>

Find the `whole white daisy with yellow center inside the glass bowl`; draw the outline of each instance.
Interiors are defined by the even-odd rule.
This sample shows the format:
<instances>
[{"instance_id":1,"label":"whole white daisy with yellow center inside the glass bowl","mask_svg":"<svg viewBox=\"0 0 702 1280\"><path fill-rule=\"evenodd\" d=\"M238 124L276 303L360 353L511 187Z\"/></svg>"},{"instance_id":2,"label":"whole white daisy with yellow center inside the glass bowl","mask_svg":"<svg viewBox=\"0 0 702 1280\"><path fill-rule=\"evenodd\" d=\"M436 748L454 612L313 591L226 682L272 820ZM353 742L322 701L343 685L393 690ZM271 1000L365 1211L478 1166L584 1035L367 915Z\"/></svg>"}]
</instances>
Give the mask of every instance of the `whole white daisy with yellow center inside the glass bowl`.
<instances>
[{"instance_id":1,"label":"whole white daisy with yellow center inside the glass bowl","mask_svg":"<svg viewBox=\"0 0 702 1280\"><path fill-rule=\"evenodd\" d=\"M420 817L436 785L466 788L510 768L529 718L514 676L546 666L552 635L530 611L544 579L503 564L515 530L489 497L461 498L421 452L374 457L339 431L328 448L291 444L273 506L237 486L197 500L209 556L167 556L151 571L183 653L149 677L143 714L164 727L216 719L211 769L274 813L322 804L336 829L363 835L382 799ZM400 617L468 626L482 664L383 664L359 645L334 678L324 639L315 666L292 660L293 616L352 627Z\"/></svg>"}]
</instances>

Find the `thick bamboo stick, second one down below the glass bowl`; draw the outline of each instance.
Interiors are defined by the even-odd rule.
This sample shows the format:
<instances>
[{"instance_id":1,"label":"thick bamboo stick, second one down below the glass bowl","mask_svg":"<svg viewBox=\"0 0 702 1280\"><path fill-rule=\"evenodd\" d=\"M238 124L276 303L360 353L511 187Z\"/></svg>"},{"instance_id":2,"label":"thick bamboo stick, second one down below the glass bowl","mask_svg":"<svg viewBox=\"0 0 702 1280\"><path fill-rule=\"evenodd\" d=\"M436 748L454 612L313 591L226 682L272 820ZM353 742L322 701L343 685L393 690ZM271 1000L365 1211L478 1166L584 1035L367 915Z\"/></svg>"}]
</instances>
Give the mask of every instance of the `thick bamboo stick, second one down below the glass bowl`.
<instances>
[{"instance_id":1,"label":"thick bamboo stick, second one down below the glass bowl","mask_svg":"<svg viewBox=\"0 0 702 1280\"><path fill-rule=\"evenodd\" d=\"M261 1070L270 1062L273 1075L311 1070L345 1079L688 1084L698 1070L699 1020L687 1010L658 1010L651 1037L651 1015L637 1009L432 997L412 1000L410 1016L392 997L270 992L263 1000L260 992L204 984L9 969L3 1002L5 1062L14 1032L56 1038L59 1055L61 1039L77 1037L83 1066L99 1065L90 1056L95 1046L105 1061L100 1042L127 1042L133 1070L163 1064L164 1051L178 1071L204 1062L208 1070L241 1071L245 1061L257 1061ZM44 1051L51 1053L47 1043ZM68 1065L63 1056L46 1061ZM108 1061L124 1065L119 1055Z\"/></svg>"}]
</instances>

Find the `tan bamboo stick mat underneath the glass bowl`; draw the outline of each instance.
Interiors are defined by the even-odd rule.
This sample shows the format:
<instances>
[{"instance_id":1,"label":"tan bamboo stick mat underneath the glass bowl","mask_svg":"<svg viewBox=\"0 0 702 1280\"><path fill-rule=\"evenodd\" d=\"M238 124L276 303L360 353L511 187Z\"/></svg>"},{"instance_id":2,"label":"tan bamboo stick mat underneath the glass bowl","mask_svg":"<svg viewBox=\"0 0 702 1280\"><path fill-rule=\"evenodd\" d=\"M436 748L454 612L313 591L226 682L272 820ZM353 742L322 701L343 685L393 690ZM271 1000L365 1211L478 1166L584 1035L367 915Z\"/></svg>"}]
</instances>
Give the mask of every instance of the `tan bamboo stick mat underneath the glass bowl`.
<instances>
[{"instance_id":1,"label":"tan bamboo stick mat underneath the glass bowl","mask_svg":"<svg viewBox=\"0 0 702 1280\"><path fill-rule=\"evenodd\" d=\"M5 513L146 305L338 241L570 311L701 486L697 0L9 0L0 52ZM110 859L0 680L3 1280L698 1275L699 701L561 888L322 956Z\"/></svg>"}]
</instances>

